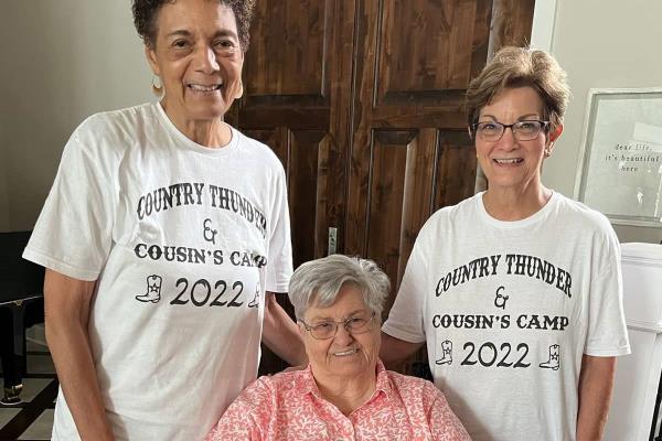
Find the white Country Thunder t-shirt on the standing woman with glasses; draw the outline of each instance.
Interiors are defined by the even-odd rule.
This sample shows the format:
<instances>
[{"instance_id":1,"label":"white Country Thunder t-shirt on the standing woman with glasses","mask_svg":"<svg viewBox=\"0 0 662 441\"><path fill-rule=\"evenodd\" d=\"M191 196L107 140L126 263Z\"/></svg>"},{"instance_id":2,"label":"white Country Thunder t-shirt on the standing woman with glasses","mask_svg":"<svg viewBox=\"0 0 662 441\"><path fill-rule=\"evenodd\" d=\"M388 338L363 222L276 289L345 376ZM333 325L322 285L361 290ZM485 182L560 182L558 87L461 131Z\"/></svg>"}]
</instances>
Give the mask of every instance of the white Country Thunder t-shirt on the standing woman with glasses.
<instances>
[{"instance_id":1,"label":"white Country Thunder t-shirt on the standing woman with glasses","mask_svg":"<svg viewBox=\"0 0 662 441\"><path fill-rule=\"evenodd\" d=\"M427 341L474 441L575 440L583 354L630 352L619 244L605 216L554 193L501 222L482 193L425 224L383 326Z\"/></svg>"}]
</instances>

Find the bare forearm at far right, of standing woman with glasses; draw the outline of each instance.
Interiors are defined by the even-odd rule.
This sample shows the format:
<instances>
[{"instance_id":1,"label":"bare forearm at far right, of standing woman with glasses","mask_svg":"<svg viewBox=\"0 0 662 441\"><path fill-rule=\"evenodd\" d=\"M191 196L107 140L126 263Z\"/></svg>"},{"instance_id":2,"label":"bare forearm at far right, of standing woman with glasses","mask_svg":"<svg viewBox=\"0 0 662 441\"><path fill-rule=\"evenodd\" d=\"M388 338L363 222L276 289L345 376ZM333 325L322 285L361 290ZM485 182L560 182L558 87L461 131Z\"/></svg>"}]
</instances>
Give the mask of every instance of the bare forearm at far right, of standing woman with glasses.
<instances>
[{"instance_id":1,"label":"bare forearm at far right, of standing woman with glasses","mask_svg":"<svg viewBox=\"0 0 662 441\"><path fill-rule=\"evenodd\" d=\"M577 441L602 439L611 400L615 370L616 357L584 355L579 374Z\"/></svg>"}]
</instances>

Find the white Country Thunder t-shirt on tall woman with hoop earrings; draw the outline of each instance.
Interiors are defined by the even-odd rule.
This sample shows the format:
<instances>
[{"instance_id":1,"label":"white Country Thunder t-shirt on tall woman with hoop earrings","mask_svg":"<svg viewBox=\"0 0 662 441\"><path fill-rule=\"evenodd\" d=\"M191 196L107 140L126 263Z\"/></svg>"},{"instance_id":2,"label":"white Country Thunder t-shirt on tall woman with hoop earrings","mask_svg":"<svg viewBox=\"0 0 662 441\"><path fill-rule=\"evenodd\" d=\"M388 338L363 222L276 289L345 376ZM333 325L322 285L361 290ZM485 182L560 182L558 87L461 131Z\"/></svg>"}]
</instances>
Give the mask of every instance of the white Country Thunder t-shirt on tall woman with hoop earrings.
<instances>
[{"instance_id":1,"label":"white Country Thunder t-shirt on tall woman with hoop earrings","mask_svg":"<svg viewBox=\"0 0 662 441\"><path fill-rule=\"evenodd\" d=\"M287 292L285 172L234 129L194 143L159 104L95 115L23 256L97 280L88 332L116 439L203 439L256 378L265 290ZM53 438L78 439L62 392Z\"/></svg>"}]
</instances>

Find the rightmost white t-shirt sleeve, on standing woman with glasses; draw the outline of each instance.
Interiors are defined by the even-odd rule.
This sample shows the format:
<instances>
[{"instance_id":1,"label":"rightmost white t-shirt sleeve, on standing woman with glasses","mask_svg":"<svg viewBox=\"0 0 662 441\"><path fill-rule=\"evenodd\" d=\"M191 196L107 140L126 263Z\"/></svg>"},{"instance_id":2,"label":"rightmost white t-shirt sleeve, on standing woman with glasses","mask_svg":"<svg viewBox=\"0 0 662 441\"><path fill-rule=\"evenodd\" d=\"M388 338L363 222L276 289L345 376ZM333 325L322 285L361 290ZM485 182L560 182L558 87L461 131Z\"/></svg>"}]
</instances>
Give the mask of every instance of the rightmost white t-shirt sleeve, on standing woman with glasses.
<instances>
[{"instance_id":1,"label":"rightmost white t-shirt sleeve, on standing woman with glasses","mask_svg":"<svg viewBox=\"0 0 662 441\"><path fill-rule=\"evenodd\" d=\"M630 353L623 313L620 245L609 227L606 245L597 254L588 310L586 355L608 357Z\"/></svg>"}]
</instances>

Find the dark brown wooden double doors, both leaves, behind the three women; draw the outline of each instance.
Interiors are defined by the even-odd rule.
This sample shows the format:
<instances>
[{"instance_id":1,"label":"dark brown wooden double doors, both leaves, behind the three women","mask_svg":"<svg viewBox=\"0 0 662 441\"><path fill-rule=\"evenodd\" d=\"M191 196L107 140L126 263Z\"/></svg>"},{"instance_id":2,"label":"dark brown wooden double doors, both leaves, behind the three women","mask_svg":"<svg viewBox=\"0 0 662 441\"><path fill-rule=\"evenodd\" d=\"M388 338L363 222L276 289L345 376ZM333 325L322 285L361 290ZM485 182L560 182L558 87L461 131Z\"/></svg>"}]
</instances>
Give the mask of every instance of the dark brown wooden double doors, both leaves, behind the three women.
<instances>
[{"instance_id":1,"label":"dark brown wooden double doors, both leaves, behind the three women","mask_svg":"<svg viewBox=\"0 0 662 441\"><path fill-rule=\"evenodd\" d=\"M416 235L473 194L463 95L534 0L259 0L238 126L288 176L295 266L337 250L376 260L391 306ZM263 372L282 367L268 353Z\"/></svg>"}]
</instances>

